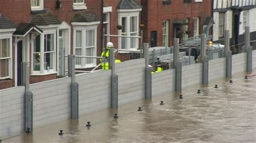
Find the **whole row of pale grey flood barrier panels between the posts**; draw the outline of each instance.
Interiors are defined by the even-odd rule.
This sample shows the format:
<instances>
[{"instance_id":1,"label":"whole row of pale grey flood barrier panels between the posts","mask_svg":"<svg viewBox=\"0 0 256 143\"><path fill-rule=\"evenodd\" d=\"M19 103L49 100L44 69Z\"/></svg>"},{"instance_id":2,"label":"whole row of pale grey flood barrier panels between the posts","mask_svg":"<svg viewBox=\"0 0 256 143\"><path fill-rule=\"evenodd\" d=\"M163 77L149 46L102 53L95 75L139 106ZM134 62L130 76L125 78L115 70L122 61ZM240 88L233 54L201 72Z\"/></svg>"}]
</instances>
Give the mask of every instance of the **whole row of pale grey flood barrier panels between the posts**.
<instances>
[{"instance_id":1,"label":"whole row of pale grey flood barrier panels between the posts","mask_svg":"<svg viewBox=\"0 0 256 143\"><path fill-rule=\"evenodd\" d=\"M232 55L232 75L246 71L247 54ZM116 64L118 76L118 104L145 98L146 59L136 59ZM252 51L252 68L256 69L256 50ZM152 74L152 95L157 96L175 90L176 70L164 70ZM226 77L226 59L208 62L208 80ZM75 76L79 85L79 116L111 107L112 69ZM203 63L183 66L181 87L201 84ZM52 124L71 118L71 77L30 84L33 94L33 127ZM0 137L25 132L25 87L0 90Z\"/></svg>"}]
</instances>

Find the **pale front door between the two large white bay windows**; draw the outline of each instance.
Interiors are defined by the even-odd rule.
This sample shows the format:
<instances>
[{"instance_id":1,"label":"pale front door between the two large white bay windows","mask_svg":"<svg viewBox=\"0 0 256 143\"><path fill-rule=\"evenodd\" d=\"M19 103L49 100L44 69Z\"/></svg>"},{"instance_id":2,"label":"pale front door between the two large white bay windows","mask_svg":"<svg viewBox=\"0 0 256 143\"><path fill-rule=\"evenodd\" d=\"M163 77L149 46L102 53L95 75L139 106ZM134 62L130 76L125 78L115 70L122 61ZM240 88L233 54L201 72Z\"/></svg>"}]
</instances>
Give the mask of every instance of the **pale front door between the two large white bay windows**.
<instances>
[{"instance_id":1,"label":"pale front door between the two large white bay windows","mask_svg":"<svg viewBox=\"0 0 256 143\"><path fill-rule=\"evenodd\" d=\"M59 30L59 75L65 73L66 30Z\"/></svg>"}]
</instances>

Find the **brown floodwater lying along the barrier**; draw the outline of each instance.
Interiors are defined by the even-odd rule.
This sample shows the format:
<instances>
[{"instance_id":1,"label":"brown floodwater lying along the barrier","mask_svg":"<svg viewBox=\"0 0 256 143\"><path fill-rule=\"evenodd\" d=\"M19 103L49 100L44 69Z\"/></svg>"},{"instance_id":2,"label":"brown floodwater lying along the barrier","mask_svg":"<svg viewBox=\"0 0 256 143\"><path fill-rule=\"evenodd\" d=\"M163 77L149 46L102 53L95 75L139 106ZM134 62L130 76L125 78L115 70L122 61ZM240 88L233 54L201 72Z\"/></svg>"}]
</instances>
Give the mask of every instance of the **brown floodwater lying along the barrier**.
<instances>
[{"instance_id":1,"label":"brown floodwater lying along the barrier","mask_svg":"<svg viewBox=\"0 0 256 143\"><path fill-rule=\"evenodd\" d=\"M244 75L59 121L3 142L256 142L256 76Z\"/></svg>"}]
</instances>

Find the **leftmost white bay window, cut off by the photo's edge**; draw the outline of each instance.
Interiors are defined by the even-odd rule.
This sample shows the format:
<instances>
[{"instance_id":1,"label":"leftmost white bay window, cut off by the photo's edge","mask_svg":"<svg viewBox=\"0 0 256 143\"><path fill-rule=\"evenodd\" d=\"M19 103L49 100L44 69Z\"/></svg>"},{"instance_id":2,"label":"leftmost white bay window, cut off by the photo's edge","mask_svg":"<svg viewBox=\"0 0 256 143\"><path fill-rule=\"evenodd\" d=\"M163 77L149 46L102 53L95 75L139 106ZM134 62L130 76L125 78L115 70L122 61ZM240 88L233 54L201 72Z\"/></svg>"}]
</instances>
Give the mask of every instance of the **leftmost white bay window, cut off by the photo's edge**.
<instances>
[{"instance_id":1,"label":"leftmost white bay window, cut off by the photo's edge","mask_svg":"<svg viewBox=\"0 0 256 143\"><path fill-rule=\"evenodd\" d=\"M0 79L11 77L10 38L0 39Z\"/></svg>"}]
</instances>

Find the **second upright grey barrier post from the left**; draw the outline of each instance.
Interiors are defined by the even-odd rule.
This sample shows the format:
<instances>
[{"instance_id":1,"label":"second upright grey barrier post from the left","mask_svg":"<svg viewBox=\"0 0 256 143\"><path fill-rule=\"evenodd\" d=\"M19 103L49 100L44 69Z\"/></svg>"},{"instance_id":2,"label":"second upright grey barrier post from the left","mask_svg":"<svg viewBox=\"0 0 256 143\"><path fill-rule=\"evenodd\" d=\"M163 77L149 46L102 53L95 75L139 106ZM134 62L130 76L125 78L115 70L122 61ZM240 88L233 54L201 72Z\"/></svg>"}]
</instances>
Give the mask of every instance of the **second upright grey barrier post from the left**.
<instances>
[{"instance_id":1,"label":"second upright grey barrier post from the left","mask_svg":"<svg viewBox=\"0 0 256 143\"><path fill-rule=\"evenodd\" d=\"M75 55L69 55L69 77L71 77L71 118L79 118L79 90L75 75Z\"/></svg>"}]
</instances>

